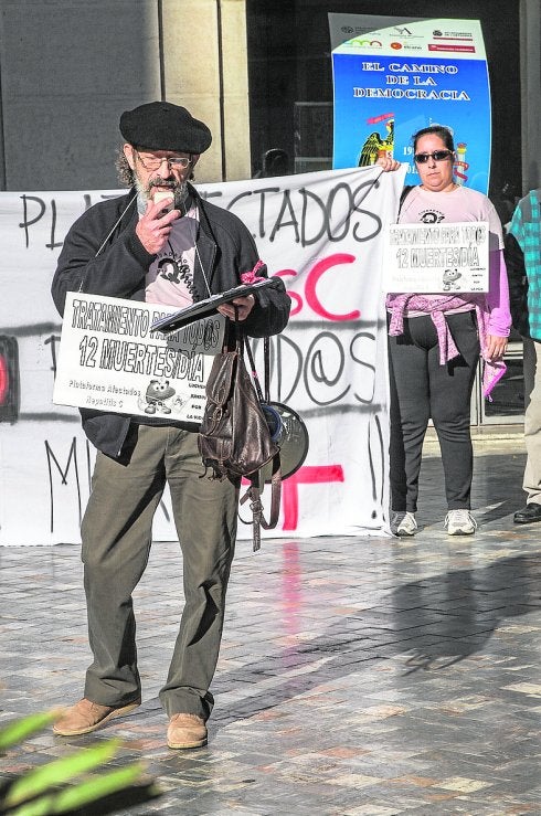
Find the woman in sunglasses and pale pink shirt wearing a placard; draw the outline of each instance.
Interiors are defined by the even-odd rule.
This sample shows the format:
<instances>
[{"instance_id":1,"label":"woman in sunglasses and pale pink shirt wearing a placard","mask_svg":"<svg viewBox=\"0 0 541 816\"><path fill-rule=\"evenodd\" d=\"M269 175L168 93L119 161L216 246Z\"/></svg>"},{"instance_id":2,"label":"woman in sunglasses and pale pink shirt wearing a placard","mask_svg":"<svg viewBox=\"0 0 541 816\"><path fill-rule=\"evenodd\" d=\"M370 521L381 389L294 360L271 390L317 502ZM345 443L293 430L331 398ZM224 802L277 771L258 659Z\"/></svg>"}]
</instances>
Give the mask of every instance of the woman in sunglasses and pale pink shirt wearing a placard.
<instances>
[{"instance_id":1,"label":"woman in sunglasses and pale pink shirt wearing a placard","mask_svg":"<svg viewBox=\"0 0 541 816\"><path fill-rule=\"evenodd\" d=\"M417 529L418 475L423 441L432 417L445 474L450 536L471 534L473 446L470 399L479 354L488 367L500 361L511 326L501 223L489 199L454 181L450 130L441 125L413 137L421 184L403 198L400 223L488 221L489 292L484 295L390 294L391 529ZM382 159L384 170L399 162ZM487 369L488 370L488 369Z\"/></svg>"}]
</instances>

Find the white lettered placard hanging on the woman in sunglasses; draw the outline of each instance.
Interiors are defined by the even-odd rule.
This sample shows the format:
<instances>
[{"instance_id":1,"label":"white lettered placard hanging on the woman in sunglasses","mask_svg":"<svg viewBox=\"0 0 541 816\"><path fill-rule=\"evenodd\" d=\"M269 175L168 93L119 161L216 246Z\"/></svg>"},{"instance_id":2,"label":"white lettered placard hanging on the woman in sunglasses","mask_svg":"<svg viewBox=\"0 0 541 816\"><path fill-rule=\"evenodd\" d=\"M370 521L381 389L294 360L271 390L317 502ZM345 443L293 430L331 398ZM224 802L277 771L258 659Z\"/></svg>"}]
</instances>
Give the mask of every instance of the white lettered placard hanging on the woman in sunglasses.
<instances>
[{"instance_id":1,"label":"white lettered placard hanging on the woman in sunglasses","mask_svg":"<svg viewBox=\"0 0 541 816\"><path fill-rule=\"evenodd\" d=\"M488 292L487 221L391 224L386 292L439 294Z\"/></svg>"}]
</instances>

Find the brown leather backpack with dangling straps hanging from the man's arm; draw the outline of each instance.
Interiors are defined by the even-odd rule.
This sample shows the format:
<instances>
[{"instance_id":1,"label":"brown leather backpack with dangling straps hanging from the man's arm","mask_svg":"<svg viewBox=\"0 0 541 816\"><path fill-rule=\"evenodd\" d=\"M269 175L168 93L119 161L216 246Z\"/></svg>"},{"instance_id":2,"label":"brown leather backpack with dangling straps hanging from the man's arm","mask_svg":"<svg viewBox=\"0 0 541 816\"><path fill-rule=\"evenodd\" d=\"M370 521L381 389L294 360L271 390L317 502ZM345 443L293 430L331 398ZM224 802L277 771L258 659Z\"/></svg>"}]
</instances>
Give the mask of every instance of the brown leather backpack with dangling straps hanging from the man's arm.
<instances>
[{"instance_id":1,"label":"brown leather backpack with dangling straps hanging from the man's arm","mask_svg":"<svg viewBox=\"0 0 541 816\"><path fill-rule=\"evenodd\" d=\"M241 505L250 500L253 515L253 547L261 548L261 527L272 530L278 523L282 494L279 447L273 441L262 407L263 393L247 339L234 322L236 347L216 354L206 382L206 405L198 436L199 452L210 478L250 479ZM253 381L244 363L244 348L253 369ZM265 374L268 383L268 340L265 340ZM268 402L268 399L267 399ZM261 468L272 462L272 500L268 521L263 515Z\"/></svg>"}]
</instances>

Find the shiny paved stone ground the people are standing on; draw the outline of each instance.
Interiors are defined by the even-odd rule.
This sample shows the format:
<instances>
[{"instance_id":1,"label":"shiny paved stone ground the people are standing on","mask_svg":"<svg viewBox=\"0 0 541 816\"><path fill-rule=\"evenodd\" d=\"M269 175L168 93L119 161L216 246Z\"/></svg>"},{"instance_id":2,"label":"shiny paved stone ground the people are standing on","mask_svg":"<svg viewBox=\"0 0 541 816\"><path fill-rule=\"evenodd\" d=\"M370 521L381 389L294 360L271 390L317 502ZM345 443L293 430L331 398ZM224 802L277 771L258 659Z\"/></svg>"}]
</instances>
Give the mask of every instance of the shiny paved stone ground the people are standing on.
<instances>
[{"instance_id":1,"label":"shiny paved stone ground the people are standing on","mask_svg":"<svg viewBox=\"0 0 541 816\"><path fill-rule=\"evenodd\" d=\"M475 537L449 538L436 457L414 539L238 544L208 748L165 746L157 692L181 560L157 542L137 591L144 704L97 734L50 732L4 776L113 734L165 791L131 814L541 814L541 524L517 527L520 442L476 454ZM0 721L78 699L78 549L0 550ZM119 810L118 813L127 813Z\"/></svg>"}]
</instances>

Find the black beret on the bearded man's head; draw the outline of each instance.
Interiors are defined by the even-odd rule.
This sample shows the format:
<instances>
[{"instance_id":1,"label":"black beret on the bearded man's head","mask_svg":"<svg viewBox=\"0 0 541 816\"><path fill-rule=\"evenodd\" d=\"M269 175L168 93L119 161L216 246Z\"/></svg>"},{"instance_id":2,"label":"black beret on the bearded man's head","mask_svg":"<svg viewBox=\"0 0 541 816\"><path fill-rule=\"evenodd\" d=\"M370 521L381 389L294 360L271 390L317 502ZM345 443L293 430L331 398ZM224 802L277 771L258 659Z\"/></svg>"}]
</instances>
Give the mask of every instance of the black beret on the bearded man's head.
<instances>
[{"instance_id":1,"label":"black beret on the bearded man's head","mask_svg":"<svg viewBox=\"0 0 541 816\"><path fill-rule=\"evenodd\" d=\"M120 133L130 145L147 150L202 153L212 141L206 125L170 102L149 102L125 110L120 116Z\"/></svg>"}]
</instances>

